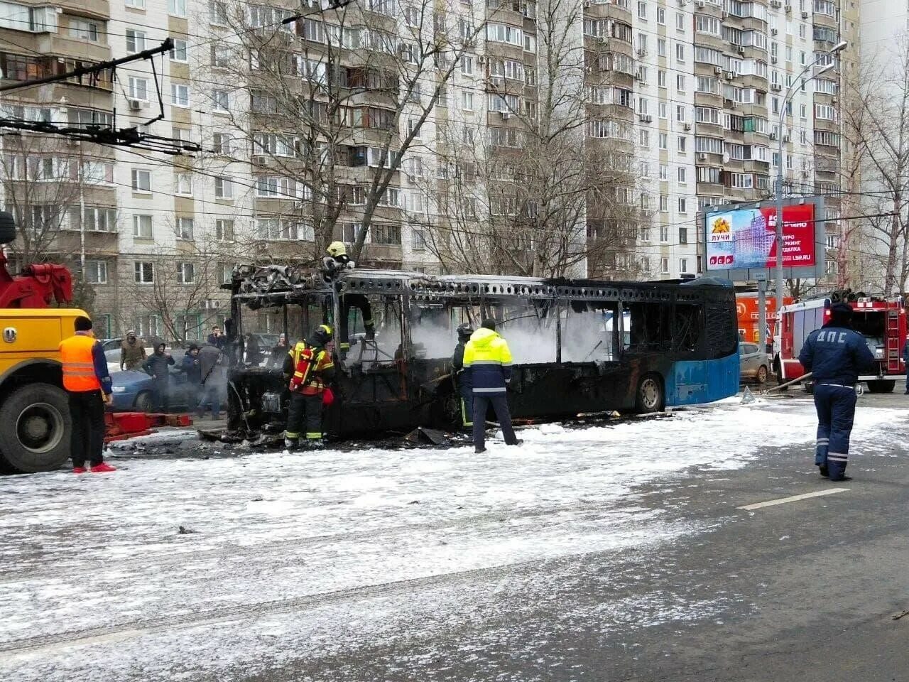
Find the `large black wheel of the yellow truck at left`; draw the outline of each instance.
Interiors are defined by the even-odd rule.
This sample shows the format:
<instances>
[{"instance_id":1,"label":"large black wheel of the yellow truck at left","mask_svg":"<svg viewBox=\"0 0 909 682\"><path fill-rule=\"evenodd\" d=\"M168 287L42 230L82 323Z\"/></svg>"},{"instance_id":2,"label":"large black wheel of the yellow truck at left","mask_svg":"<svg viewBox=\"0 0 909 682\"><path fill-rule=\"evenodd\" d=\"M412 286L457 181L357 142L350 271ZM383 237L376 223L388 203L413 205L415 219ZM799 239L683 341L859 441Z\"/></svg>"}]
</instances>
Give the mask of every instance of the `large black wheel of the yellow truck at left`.
<instances>
[{"instance_id":1,"label":"large black wheel of the yellow truck at left","mask_svg":"<svg viewBox=\"0 0 909 682\"><path fill-rule=\"evenodd\" d=\"M62 388L20 386L0 406L0 465L20 474L60 468L69 457L71 431Z\"/></svg>"}]
</instances>

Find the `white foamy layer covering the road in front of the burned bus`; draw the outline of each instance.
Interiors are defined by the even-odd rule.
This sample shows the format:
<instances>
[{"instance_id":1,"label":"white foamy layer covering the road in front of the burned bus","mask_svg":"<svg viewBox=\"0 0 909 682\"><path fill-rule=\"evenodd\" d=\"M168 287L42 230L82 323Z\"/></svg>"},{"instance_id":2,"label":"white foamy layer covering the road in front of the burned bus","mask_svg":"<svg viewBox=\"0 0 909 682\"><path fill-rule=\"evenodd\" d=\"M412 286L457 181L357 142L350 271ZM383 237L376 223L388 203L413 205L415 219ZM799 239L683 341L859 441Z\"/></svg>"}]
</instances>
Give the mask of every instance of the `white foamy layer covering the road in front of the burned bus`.
<instances>
[{"instance_id":1,"label":"white foamy layer covering the road in front of the burned bus","mask_svg":"<svg viewBox=\"0 0 909 682\"><path fill-rule=\"evenodd\" d=\"M861 409L855 450L885 455L881 426L894 418L903 411ZM0 479L0 679L226 679L236 667L424 636L510 590L542 599L572 575L572 557L655 551L703 529L667 522L635 498L638 486L744 466L764 446L804 443L810 456L814 408L730 401L522 436L483 456L134 457L108 476ZM560 562L563 574L534 572ZM667 598L590 615L608 629L637 613L644 626L717 608Z\"/></svg>"}]
</instances>

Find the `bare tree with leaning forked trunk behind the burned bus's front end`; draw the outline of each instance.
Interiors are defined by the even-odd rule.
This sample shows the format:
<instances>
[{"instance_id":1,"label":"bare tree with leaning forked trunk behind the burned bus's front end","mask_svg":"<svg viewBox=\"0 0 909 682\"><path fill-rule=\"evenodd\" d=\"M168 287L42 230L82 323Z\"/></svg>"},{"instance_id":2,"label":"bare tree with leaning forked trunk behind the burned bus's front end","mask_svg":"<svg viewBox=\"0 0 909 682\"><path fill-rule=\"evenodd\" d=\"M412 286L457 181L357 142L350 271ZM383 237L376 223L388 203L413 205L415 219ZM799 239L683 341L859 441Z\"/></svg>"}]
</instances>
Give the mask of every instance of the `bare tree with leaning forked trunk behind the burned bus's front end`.
<instances>
[{"instance_id":1,"label":"bare tree with leaning forked trunk behind the burned bus's front end","mask_svg":"<svg viewBox=\"0 0 909 682\"><path fill-rule=\"evenodd\" d=\"M213 45L205 79L244 100L222 113L253 156L257 198L275 199L257 212L311 229L311 258L341 236L359 258L375 221L399 222L403 156L484 30L482 8L448 2L365 0L296 18L213 4L215 24L236 35Z\"/></svg>"}]
</instances>

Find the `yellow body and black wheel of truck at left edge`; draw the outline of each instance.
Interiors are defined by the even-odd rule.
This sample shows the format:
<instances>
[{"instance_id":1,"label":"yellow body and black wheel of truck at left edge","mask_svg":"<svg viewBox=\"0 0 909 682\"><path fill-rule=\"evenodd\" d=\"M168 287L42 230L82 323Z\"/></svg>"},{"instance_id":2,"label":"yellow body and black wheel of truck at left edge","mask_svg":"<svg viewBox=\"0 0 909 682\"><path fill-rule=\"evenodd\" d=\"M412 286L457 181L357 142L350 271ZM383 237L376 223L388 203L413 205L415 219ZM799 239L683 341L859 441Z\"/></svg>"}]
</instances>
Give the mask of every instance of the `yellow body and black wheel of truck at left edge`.
<instances>
[{"instance_id":1,"label":"yellow body and black wheel of truck at left edge","mask_svg":"<svg viewBox=\"0 0 909 682\"><path fill-rule=\"evenodd\" d=\"M0 467L34 473L69 456L70 419L60 341L73 336L76 308L0 308Z\"/></svg>"}]
</instances>

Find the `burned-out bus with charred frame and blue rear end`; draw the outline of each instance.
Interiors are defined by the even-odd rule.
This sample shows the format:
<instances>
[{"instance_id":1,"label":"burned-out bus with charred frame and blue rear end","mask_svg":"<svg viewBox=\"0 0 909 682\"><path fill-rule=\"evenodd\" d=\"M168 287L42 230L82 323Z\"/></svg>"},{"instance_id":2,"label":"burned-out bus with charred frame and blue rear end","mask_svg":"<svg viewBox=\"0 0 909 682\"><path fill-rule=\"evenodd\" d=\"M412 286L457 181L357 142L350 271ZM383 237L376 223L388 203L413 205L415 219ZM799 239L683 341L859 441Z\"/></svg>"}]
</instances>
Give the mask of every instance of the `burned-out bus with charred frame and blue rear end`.
<instances>
[{"instance_id":1,"label":"burned-out bus with charred frame and blue rear end","mask_svg":"<svg viewBox=\"0 0 909 682\"><path fill-rule=\"evenodd\" d=\"M329 436L375 436L459 424L451 357L462 323L494 317L514 357L514 419L610 410L648 413L733 396L735 297L715 280L607 282L511 276L239 266L232 283L235 359L245 319L267 312L290 344L335 329ZM281 358L230 372L229 430L284 428Z\"/></svg>"}]
</instances>

